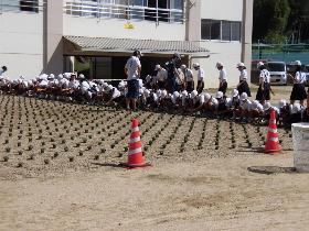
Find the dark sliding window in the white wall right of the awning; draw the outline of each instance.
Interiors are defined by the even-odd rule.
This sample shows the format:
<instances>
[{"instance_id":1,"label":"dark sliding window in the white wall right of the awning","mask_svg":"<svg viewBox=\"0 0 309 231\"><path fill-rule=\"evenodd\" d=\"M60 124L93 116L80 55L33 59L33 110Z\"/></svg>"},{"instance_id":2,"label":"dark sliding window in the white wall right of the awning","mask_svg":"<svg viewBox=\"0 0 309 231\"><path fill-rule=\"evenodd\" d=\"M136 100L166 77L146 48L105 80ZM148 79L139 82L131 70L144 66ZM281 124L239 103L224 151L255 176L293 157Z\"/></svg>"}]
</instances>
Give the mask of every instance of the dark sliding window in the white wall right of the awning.
<instances>
[{"instance_id":1,"label":"dark sliding window in the white wall right of the awning","mask_svg":"<svg viewBox=\"0 0 309 231\"><path fill-rule=\"evenodd\" d=\"M202 19L201 38L219 41L241 41L241 22Z\"/></svg>"}]
</instances>

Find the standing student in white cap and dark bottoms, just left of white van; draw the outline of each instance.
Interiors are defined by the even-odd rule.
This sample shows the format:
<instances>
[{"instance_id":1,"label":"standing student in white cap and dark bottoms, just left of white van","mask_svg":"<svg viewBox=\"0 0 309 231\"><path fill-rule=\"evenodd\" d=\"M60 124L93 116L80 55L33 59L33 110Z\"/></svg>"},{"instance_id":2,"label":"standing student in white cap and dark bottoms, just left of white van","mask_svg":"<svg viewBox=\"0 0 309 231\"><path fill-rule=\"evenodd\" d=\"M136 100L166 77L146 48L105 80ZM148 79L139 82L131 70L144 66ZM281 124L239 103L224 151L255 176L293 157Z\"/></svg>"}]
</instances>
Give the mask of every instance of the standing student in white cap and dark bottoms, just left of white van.
<instances>
[{"instance_id":1,"label":"standing student in white cap and dark bottoms, just left of white van","mask_svg":"<svg viewBox=\"0 0 309 231\"><path fill-rule=\"evenodd\" d=\"M256 94L256 100L262 105L270 100L270 74L266 69L266 66L263 62L257 63L257 68L259 73L259 87Z\"/></svg>"}]
</instances>

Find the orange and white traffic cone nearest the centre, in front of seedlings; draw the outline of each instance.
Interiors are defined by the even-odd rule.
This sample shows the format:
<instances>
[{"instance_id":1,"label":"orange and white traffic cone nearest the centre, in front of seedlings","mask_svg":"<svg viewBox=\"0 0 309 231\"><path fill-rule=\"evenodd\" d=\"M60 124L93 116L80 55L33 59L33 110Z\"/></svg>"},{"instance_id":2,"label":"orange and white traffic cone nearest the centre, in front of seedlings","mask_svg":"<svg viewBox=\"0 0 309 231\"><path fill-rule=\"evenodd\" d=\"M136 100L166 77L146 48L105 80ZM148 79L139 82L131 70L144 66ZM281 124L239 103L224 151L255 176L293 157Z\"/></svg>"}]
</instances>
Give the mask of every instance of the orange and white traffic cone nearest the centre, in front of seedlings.
<instances>
[{"instance_id":1,"label":"orange and white traffic cone nearest the centre, in front of seedlings","mask_svg":"<svg viewBox=\"0 0 309 231\"><path fill-rule=\"evenodd\" d=\"M129 142L128 163L122 165L129 168L151 166L151 164L145 163L145 158L142 156L142 145L137 119L132 119L131 129L132 132Z\"/></svg>"}]
</instances>

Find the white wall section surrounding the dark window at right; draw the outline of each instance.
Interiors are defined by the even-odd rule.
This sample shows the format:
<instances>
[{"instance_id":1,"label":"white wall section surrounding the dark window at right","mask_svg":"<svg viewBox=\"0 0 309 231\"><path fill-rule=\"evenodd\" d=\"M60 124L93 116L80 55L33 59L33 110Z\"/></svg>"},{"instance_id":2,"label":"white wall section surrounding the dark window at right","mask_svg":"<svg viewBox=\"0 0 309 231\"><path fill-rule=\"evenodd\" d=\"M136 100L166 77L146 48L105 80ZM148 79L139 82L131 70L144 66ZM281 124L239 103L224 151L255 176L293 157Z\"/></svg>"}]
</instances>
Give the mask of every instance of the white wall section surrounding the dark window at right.
<instances>
[{"instance_id":1,"label":"white wall section surrounding the dark window at right","mask_svg":"<svg viewBox=\"0 0 309 231\"><path fill-rule=\"evenodd\" d=\"M243 0L198 0L191 9L190 40L201 41L200 45L210 50L210 58L194 58L191 63L199 62L205 70L205 88L219 87L219 70L215 68L217 62L225 65L227 72L228 87L238 84L239 73L236 64L242 59L242 43L232 41L202 41L201 19L238 21L243 20ZM195 16L200 19L196 20Z\"/></svg>"}]
</instances>

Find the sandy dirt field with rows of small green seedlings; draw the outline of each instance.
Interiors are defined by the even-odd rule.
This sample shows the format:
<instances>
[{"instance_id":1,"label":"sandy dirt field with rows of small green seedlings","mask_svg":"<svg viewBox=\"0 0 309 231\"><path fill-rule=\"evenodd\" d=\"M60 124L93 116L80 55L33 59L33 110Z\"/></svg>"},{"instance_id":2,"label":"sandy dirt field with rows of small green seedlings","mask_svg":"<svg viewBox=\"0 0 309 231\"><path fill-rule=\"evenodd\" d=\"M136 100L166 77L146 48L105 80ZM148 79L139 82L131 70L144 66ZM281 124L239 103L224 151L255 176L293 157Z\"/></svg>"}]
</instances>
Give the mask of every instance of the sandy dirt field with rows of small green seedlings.
<instances>
[{"instance_id":1,"label":"sandy dirt field with rows of small green seedlings","mask_svg":"<svg viewBox=\"0 0 309 231\"><path fill-rule=\"evenodd\" d=\"M0 106L0 230L309 224L308 175L289 168L290 131L279 130L283 154L266 155L266 127L13 96ZM116 167L134 117L151 168Z\"/></svg>"}]
</instances>

